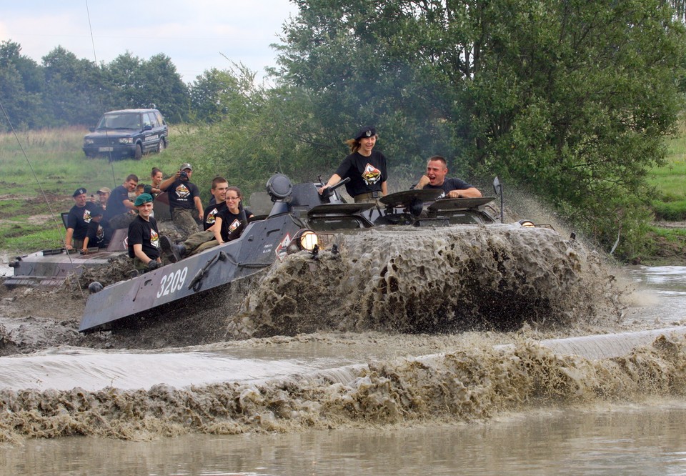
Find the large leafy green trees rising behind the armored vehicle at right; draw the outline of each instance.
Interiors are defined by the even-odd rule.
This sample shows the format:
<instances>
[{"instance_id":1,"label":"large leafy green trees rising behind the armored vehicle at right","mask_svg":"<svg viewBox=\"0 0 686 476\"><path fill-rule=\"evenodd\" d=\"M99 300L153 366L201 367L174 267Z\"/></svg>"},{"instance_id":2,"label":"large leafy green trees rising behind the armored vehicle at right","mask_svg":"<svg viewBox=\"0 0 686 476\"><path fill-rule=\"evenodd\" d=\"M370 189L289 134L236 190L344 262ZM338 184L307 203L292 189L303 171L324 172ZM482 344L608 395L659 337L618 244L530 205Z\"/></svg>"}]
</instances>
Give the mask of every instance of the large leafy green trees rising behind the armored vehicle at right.
<instances>
[{"instance_id":1,"label":"large leafy green trees rising behind the armored vehicle at right","mask_svg":"<svg viewBox=\"0 0 686 476\"><path fill-rule=\"evenodd\" d=\"M624 211L682 110L670 2L297 4L278 73L312 91L322 124L375 122L395 164L442 152L534 187L603 244L640 229L645 216Z\"/></svg>"}]
</instances>

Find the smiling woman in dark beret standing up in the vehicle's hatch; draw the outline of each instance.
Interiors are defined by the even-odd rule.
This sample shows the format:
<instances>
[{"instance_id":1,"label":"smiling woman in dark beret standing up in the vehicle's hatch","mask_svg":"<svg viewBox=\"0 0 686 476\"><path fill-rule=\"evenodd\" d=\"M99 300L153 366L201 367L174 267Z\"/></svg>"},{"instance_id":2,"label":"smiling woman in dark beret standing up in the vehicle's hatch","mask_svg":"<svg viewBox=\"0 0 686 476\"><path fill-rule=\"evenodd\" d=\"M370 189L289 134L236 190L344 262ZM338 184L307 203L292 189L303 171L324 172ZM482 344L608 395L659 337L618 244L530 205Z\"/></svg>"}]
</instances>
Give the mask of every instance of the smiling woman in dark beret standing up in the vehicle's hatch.
<instances>
[{"instance_id":1,"label":"smiling woman in dark beret standing up in the vehicle's hatch","mask_svg":"<svg viewBox=\"0 0 686 476\"><path fill-rule=\"evenodd\" d=\"M359 129L354 139L346 141L350 148L350 154L332 175L324 187L319 189L322 194L325 189L342 179L350 179L345 184L348 194L359 202L376 202L388 193L386 157L379 151L374 150L377 143L377 129L373 126L365 126Z\"/></svg>"}]
</instances>

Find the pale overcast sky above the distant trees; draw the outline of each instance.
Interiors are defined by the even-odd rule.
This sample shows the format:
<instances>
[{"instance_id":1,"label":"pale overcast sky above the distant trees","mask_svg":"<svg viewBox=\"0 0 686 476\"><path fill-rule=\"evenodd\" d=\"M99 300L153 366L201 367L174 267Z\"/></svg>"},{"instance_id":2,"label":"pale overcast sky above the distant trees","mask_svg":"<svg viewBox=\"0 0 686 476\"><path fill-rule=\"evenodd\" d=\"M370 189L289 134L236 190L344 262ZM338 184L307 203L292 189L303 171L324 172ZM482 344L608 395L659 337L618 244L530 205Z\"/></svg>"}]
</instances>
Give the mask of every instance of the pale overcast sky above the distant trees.
<instances>
[{"instance_id":1,"label":"pale overcast sky above the distant trees","mask_svg":"<svg viewBox=\"0 0 686 476\"><path fill-rule=\"evenodd\" d=\"M163 53L186 82L206 69L228 69L224 56L262 76L276 66L269 44L296 14L289 0L4 0L0 41L19 43L39 64L61 45L99 63L127 50L141 59Z\"/></svg>"}]
</instances>

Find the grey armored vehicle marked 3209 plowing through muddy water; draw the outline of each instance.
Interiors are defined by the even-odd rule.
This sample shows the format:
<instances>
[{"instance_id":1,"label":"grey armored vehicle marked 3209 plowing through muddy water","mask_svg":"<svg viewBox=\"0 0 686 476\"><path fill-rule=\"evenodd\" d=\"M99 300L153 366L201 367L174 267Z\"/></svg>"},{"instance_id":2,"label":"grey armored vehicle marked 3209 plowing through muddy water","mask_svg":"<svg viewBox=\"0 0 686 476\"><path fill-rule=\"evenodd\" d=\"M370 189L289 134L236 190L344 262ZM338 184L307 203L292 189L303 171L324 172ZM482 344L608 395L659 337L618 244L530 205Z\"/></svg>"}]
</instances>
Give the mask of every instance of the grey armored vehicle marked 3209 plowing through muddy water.
<instances>
[{"instance_id":1,"label":"grey armored vehicle marked 3209 plowing through muddy water","mask_svg":"<svg viewBox=\"0 0 686 476\"><path fill-rule=\"evenodd\" d=\"M138 277L95 291L88 299L79 331L123 325L128 319L161 317L172 309L203 299L213 289L271 267L288 254L307 251L337 253L340 237L398 226L445 227L495 222L484 206L492 198L443 199L442 191L409 190L389 194L379 203L346 203L337 192L344 182L318 193L322 183L292 184L277 174L267 182L272 202L268 214L244 224L239 238Z\"/></svg>"}]
</instances>

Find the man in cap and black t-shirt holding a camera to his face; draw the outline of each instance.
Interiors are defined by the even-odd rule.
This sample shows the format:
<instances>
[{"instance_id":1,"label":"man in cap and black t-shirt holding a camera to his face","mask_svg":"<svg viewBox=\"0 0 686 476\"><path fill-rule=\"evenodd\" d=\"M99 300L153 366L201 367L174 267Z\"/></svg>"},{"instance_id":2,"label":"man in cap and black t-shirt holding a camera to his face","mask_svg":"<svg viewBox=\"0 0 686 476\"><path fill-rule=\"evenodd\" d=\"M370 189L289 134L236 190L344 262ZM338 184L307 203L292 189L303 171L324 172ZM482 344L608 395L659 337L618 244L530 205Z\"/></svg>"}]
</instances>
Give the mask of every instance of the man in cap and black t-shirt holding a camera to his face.
<instances>
[{"instance_id":1,"label":"man in cap and black t-shirt holding a camera to his face","mask_svg":"<svg viewBox=\"0 0 686 476\"><path fill-rule=\"evenodd\" d=\"M176 174L159 184L159 189L169 195L169 212L172 214L172 222L182 231L184 237L198 231L198 222L193 216L194 209L197 211L199 221L202 221L204 217L200 191L191 182L192 174L191 164L182 164Z\"/></svg>"}]
</instances>

